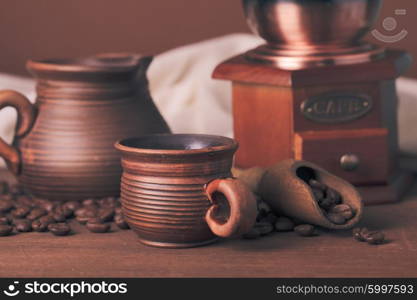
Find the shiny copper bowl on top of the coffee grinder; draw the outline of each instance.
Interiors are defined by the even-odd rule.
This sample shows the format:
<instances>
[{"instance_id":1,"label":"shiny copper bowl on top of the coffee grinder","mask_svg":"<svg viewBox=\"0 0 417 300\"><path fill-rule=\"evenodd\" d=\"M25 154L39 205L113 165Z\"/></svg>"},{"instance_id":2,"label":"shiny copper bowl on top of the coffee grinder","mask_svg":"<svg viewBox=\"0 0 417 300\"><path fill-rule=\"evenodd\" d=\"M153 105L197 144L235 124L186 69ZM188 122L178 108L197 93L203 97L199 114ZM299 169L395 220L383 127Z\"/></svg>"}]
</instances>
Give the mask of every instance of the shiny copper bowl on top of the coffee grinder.
<instances>
[{"instance_id":1,"label":"shiny copper bowl on top of the coffee grinder","mask_svg":"<svg viewBox=\"0 0 417 300\"><path fill-rule=\"evenodd\" d=\"M251 30L269 45L349 47L374 24L382 0L243 0Z\"/></svg>"}]
</instances>

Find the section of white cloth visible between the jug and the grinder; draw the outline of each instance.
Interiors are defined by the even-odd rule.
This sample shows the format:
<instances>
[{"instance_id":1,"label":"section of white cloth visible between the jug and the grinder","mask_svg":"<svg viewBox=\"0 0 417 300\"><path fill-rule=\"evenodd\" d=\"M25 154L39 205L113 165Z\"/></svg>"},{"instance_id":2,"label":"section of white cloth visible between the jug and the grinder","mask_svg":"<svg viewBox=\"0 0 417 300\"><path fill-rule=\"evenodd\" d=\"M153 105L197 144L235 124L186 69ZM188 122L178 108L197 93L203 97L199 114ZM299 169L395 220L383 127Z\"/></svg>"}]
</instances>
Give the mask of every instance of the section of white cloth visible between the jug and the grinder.
<instances>
[{"instance_id":1,"label":"section of white cloth visible between the jug and the grinder","mask_svg":"<svg viewBox=\"0 0 417 300\"><path fill-rule=\"evenodd\" d=\"M148 72L150 90L173 132L233 135L231 84L211 75L220 62L260 43L253 35L235 34L156 57Z\"/></svg>"}]
</instances>

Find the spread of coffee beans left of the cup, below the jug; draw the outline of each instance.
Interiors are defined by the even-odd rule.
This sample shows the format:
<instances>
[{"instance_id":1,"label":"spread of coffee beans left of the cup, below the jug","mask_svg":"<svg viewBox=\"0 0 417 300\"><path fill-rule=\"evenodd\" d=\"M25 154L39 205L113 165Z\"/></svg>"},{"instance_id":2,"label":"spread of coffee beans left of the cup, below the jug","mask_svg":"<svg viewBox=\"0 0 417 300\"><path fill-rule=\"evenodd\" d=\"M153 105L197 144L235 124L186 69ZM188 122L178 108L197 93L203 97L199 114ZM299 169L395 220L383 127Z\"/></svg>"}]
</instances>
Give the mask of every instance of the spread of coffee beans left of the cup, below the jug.
<instances>
[{"instance_id":1,"label":"spread of coffee beans left of the cup, below the jug","mask_svg":"<svg viewBox=\"0 0 417 300\"><path fill-rule=\"evenodd\" d=\"M73 218L94 233L110 231L113 222L129 229L117 197L52 202L31 197L19 185L0 182L0 236L30 231L66 236L72 232Z\"/></svg>"}]
</instances>

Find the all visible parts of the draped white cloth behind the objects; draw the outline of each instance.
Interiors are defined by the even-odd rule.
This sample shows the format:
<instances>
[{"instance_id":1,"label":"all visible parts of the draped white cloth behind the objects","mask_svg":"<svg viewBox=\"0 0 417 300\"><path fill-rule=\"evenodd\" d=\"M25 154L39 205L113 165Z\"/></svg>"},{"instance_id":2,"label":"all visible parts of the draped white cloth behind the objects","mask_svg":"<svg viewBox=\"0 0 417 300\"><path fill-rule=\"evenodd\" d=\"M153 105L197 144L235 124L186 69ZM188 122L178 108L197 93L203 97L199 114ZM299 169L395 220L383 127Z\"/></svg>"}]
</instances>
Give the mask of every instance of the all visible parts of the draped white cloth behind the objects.
<instances>
[{"instance_id":1,"label":"all visible parts of the draped white cloth behind the objects","mask_svg":"<svg viewBox=\"0 0 417 300\"><path fill-rule=\"evenodd\" d=\"M153 99L175 133L232 136L231 85L211 74L223 60L254 48L262 41L233 34L158 55L148 71ZM32 79L0 74L0 90L13 89L35 98ZM417 155L417 80L398 80L399 141L403 153ZM16 113L0 112L0 136L10 142Z\"/></svg>"}]
</instances>

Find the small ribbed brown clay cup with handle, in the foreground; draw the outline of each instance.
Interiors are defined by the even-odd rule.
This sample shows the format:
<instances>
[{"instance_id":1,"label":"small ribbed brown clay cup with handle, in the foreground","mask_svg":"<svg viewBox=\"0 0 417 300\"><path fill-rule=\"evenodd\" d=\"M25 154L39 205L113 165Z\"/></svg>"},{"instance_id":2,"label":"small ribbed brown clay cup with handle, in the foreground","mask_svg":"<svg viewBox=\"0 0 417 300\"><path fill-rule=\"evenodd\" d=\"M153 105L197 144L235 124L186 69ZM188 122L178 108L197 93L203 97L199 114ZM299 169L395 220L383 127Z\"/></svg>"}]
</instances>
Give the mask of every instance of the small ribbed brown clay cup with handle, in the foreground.
<instances>
[{"instance_id":1,"label":"small ribbed brown clay cup with handle, in the foreground","mask_svg":"<svg viewBox=\"0 0 417 300\"><path fill-rule=\"evenodd\" d=\"M200 134L162 134L116 143L122 154L122 211L139 240L187 248L248 232L256 199L231 167L238 144Z\"/></svg>"}]
</instances>

